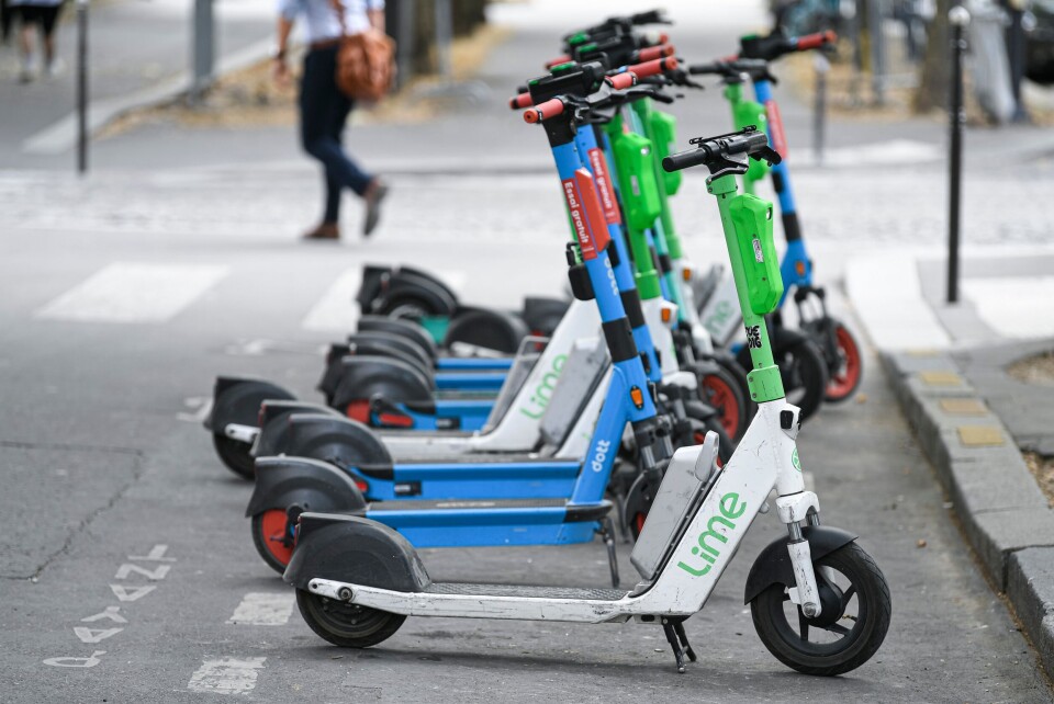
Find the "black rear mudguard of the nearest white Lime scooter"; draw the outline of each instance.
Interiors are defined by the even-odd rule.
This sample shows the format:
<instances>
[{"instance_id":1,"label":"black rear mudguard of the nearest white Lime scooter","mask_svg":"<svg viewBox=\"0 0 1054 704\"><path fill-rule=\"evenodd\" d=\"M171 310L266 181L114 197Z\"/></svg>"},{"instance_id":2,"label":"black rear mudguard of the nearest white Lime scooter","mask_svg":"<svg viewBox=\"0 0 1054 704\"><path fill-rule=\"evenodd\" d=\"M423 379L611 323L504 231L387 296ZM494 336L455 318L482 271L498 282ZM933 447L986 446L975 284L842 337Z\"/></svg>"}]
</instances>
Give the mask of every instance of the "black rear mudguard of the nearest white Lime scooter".
<instances>
[{"instance_id":1,"label":"black rear mudguard of the nearest white Lime scooter","mask_svg":"<svg viewBox=\"0 0 1054 704\"><path fill-rule=\"evenodd\" d=\"M377 521L304 513L296 549L282 579L307 589L314 578L401 592L421 592L431 580L405 537Z\"/></svg>"}]
</instances>

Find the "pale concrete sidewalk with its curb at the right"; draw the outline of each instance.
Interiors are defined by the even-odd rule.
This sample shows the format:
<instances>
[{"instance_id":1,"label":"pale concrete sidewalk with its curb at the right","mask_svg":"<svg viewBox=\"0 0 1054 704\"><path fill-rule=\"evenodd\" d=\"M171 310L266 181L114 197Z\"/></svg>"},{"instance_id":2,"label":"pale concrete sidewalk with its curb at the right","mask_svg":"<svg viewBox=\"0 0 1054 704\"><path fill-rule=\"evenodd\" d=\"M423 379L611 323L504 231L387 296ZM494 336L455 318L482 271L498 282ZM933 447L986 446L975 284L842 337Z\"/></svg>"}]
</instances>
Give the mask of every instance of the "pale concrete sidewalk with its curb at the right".
<instances>
[{"instance_id":1,"label":"pale concrete sidewalk with its curb at the right","mask_svg":"<svg viewBox=\"0 0 1054 704\"><path fill-rule=\"evenodd\" d=\"M1008 374L1054 350L1054 248L966 248L956 304L946 263L934 249L859 258L849 294L980 564L1054 673L1054 511L1021 454L1054 455L1054 389Z\"/></svg>"}]
</instances>

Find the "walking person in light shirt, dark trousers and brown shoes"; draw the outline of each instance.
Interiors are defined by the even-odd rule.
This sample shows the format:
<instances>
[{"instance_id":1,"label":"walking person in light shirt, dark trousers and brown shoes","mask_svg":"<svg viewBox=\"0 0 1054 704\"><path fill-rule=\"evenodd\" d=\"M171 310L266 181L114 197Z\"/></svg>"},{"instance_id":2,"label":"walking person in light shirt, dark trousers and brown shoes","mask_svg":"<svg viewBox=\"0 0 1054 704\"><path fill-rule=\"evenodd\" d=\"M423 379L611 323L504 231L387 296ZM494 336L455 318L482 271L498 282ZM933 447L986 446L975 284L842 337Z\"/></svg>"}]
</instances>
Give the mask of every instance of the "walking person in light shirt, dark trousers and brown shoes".
<instances>
[{"instance_id":1,"label":"walking person in light shirt, dark trousers and brown shoes","mask_svg":"<svg viewBox=\"0 0 1054 704\"><path fill-rule=\"evenodd\" d=\"M343 22L340 14L343 13ZM344 33L384 31L384 0L279 0L274 78L289 81L287 50L293 21L303 15L309 50L300 83L300 136L304 151L322 162L325 211L307 240L340 239L340 195L350 189L362 198L362 235L369 237L381 216L388 184L363 171L344 150L341 135L355 102L337 89L337 50Z\"/></svg>"}]
</instances>

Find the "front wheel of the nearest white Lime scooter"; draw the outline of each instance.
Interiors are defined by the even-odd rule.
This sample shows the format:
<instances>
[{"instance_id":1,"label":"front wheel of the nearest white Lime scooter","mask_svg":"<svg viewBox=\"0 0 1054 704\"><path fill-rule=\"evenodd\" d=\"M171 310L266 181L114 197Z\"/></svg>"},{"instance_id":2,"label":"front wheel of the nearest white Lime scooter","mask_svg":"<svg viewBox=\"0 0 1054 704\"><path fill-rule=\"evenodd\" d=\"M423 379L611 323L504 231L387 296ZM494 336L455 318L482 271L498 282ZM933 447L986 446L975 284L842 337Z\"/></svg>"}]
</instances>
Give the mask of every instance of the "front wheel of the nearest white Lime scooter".
<instances>
[{"instance_id":1,"label":"front wheel of the nearest white Lime scooter","mask_svg":"<svg viewBox=\"0 0 1054 704\"><path fill-rule=\"evenodd\" d=\"M814 560L821 610L809 618L773 584L750 602L754 628L769 651L805 674L831 677L859 668L889 629L893 610L882 570L856 543Z\"/></svg>"}]
</instances>

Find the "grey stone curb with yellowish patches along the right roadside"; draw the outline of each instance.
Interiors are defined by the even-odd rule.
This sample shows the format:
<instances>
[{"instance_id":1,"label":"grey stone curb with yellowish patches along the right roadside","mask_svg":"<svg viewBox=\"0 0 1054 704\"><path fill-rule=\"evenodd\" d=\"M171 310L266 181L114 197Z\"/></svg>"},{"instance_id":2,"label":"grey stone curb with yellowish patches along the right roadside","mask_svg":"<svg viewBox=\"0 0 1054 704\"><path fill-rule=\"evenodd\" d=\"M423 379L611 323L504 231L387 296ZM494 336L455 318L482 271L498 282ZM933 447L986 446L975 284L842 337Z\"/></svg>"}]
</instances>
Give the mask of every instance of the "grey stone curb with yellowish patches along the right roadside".
<instances>
[{"instance_id":1,"label":"grey stone curb with yellowish patches along the right roadside","mask_svg":"<svg viewBox=\"0 0 1054 704\"><path fill-rule=\"evenodd\" d=\"M1054 677L1054 511L1046 497L951 355L881 356L974 552Z\"/></svg>"}]
</instances>

